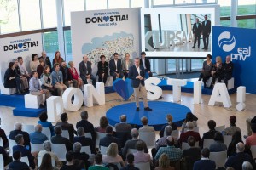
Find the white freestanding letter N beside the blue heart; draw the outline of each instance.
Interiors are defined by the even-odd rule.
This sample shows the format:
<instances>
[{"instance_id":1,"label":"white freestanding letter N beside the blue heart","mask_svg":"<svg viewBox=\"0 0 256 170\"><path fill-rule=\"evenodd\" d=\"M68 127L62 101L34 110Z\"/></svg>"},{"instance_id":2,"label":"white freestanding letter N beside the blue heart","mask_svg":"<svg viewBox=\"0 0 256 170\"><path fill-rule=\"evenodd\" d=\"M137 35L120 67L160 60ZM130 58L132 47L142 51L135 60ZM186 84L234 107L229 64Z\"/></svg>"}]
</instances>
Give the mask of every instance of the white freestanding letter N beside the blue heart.
<instances>
[{"instance_id":1,"label":"white freestanding letter N beside the blue heart","mask_svg":"<svg viewBox=\"0 0 256 170\"><path fill-rule=\"evenodd\" d=\"M84 105L92 107L93 102L105 105L105 88L103 82L96 82L96 89L91 84L84 84Z\"/></svg>"}]
</instances>

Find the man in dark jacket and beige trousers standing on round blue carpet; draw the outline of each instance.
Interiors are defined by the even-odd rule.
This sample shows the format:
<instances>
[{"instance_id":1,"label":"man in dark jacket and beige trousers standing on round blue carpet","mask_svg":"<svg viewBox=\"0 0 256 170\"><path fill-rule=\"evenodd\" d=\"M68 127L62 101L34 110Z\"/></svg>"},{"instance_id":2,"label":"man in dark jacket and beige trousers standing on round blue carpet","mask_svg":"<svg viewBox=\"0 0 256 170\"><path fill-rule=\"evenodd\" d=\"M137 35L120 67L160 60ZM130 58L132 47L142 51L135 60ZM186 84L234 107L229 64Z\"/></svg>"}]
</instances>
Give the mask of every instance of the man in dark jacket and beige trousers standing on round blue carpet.
<instances>
[{"instance_id":1,"label":"man in dark jacket and beige trousers standing on round blue carpet","mask_svg":"<svg viewBox=\"0 0 256 170\"><path fill-rule=\"evenodd\" d=\"M147 91L144 83L145 70L143 65L140 65L139 58L134 59L134 65L129 69L129 78L131 79L131 86L134 89L136 111L140 111L139 97L143 97L143 104L145 111L152 111L148 107Z\"/></svg>"}]
</instances>

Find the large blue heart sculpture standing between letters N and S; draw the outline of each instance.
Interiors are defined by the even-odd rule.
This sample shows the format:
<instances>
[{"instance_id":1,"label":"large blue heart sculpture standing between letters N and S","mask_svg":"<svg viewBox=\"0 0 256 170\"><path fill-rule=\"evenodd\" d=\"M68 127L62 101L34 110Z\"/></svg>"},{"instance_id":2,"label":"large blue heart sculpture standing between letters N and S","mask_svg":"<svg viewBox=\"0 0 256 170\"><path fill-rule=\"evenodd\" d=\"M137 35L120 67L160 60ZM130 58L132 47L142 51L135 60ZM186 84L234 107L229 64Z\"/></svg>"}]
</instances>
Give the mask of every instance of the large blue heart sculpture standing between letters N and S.
<instances>
[{"instance_id":1,"label":"large blue heart sculpture standing between letters N and S","mask_svg":"<svg viewBox=\"0 0 256 170\"><path fill-rule=\"evenodd\" d=\"M121 96L125 101L131 97L133 94L133 88L131 87L131 79L126 78L125 81L123 79L116 79L113 82L113 90L116 91L119 96Z\"/></svg>"}]
</instances>

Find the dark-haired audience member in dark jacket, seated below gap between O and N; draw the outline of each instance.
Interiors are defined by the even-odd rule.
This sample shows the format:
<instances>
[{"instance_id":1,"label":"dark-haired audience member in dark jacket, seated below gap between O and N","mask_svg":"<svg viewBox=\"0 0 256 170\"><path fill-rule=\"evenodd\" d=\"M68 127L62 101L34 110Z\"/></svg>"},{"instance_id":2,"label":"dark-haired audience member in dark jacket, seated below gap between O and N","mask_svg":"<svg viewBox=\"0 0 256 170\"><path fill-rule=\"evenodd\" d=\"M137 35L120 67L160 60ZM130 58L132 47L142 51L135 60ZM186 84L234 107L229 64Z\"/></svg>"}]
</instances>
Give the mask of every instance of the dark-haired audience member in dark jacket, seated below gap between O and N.
<instances>
[{"instance_id":1,"label":"dark-haired audience member in dark jacket, seated below gap between O and N","mask_svg":"<svg viewBox=\"0 0 256 170\"><path fill-rule=\"evenodd\" d=\"M85 133L90 133L92 141L95 143L96 131L95 131L94 127L93 127L93 124L88 121L88 112L87 111L82 111L80 113L80 116L81 116L82 120L77 122L76 127L77 128L84 127L84 132Z\"/></svg>"}]
</instances>

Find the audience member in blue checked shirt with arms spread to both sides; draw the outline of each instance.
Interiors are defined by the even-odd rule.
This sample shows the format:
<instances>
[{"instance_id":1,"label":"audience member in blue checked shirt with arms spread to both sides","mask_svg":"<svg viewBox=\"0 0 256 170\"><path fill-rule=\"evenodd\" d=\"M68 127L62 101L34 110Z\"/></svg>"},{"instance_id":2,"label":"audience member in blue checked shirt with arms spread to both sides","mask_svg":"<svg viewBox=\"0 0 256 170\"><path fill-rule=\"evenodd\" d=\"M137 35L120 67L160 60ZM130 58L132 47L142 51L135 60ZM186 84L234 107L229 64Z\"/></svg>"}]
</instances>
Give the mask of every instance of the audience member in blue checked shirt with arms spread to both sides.
<instances>
[{"instance_id":1,"label":"audience member in blue checked shirt with arms spread to both sides","mask_svg":"<svg viewBox=\"0 0 256 170\"><path fill-rule=\"evenodd\" d=\"M166 147L160 147L160 149L157 151L155 155L155 160L159 160L160 156L162 154L166 154L169 156L170 161L178 161L182 158L183 151L179 148L175 148L174 146L174 138L172 136L167 137L167 146Z\"/></svg>"}]
</instances>

